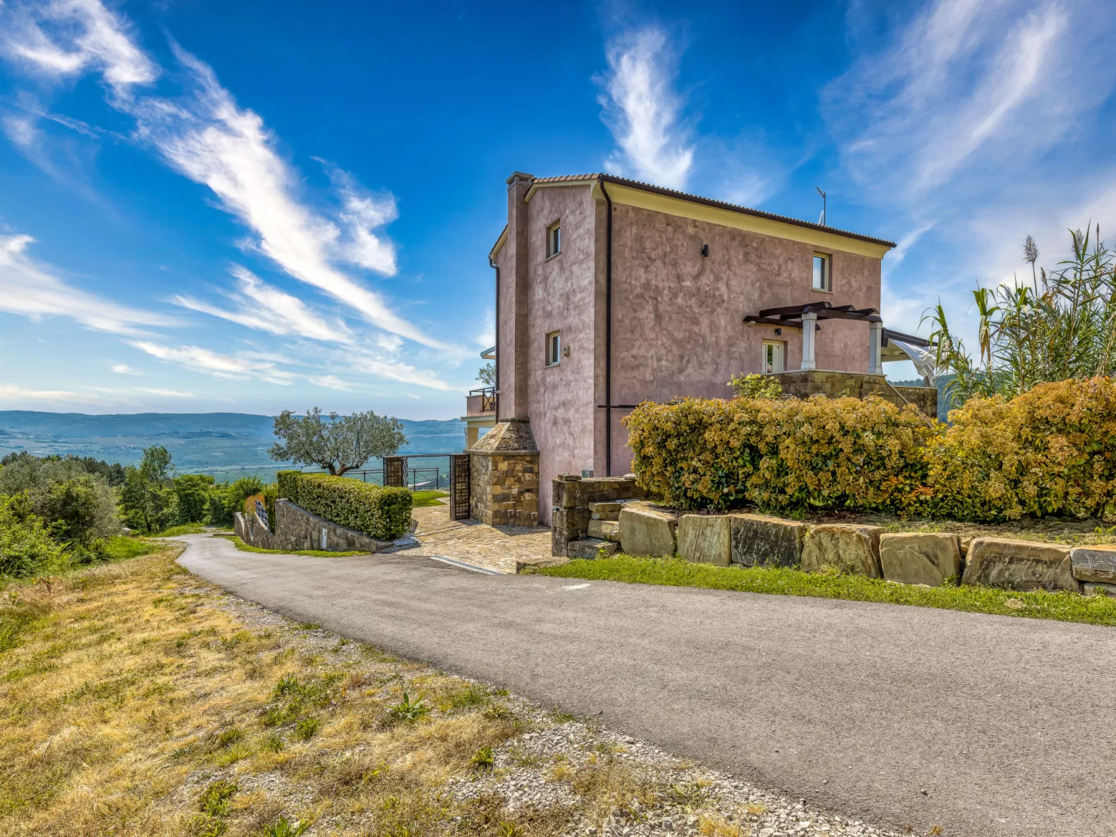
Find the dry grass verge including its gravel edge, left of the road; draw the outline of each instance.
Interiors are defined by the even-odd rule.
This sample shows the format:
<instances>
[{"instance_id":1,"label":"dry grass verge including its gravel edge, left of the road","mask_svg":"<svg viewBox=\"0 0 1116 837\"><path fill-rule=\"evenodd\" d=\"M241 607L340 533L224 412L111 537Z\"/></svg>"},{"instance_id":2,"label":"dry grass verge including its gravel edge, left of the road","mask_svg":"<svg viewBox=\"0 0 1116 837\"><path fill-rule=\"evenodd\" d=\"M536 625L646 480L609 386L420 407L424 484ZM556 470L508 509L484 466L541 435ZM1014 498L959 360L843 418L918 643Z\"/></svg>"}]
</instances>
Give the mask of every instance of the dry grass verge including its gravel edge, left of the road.
<instances>
[{"instance_id":1,"label":"dry grass verge including its gravel edge, left of the road","mask_svg":"<svg viewBox=\"0 0 1116 837\"><path fill-rule=\"evenodd\" d=\"M0 590L0 834L878 835L191 576Z\"/></svg>"}]
</instances>

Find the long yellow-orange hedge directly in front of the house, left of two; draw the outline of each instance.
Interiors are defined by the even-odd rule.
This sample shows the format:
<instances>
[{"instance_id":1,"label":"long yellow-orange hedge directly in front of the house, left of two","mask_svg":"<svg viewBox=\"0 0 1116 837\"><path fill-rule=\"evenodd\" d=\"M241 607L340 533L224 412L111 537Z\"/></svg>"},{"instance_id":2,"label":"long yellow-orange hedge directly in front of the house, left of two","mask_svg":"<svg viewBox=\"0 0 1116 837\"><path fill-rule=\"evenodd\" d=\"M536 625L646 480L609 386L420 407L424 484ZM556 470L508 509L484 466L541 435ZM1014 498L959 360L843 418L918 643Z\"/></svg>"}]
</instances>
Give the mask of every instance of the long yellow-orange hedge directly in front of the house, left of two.
<instances>
[{"instance_id":1,"label":"long yellow-orange hedge directly in front of the house, left of two","mask_svg":"<svg viewBox=\"0 0 1116 837\"><path fill-rule=\"evenodd\" d=\"M683 509L910 512L934 430L878 397L682 398L627 419L639 484Z\"/></svg>"}]
</instances>

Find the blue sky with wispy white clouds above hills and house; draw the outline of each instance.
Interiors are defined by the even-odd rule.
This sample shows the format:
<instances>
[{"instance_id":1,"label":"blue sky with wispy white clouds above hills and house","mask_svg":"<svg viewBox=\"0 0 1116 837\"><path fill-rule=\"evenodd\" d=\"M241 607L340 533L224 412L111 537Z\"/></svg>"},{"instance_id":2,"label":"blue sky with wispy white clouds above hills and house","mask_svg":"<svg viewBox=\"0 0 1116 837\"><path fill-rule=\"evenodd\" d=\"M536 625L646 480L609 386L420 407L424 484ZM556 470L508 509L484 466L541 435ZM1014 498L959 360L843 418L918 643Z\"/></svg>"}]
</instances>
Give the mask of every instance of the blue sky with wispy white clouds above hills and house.
<instances>
[{"instance_id":1,"label":"blue sky with wispy white clouds above hills and house","mask_svg":"<svg viewBox=\"0 0 1116 837\"><path fill-rule=\"evenodd\" d=\"M512 170L821 186L966 334L1113 220L1114 7L0 0L0 408L460 415Z\"/></svg>"}]
</instances>

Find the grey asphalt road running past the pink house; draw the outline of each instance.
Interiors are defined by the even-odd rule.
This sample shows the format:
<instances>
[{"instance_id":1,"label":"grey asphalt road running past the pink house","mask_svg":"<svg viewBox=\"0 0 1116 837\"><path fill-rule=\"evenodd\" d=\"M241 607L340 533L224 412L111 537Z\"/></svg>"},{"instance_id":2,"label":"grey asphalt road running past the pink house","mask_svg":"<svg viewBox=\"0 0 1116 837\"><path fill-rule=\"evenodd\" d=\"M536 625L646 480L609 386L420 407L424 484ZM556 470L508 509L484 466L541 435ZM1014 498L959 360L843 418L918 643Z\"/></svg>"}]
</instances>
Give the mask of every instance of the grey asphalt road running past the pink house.
<instances>
[{"instance_id":1,"label":"grey asphalt road running past the pink house","mask_svg":"<svg viewBox=\"0 0 1116 837\"><path fill-rule=\"evenodd\" d=\"M1116 834L1113 628L183 540L190 570L290 618L811 807L921 834Z\"/></svg>"}]
</instances>

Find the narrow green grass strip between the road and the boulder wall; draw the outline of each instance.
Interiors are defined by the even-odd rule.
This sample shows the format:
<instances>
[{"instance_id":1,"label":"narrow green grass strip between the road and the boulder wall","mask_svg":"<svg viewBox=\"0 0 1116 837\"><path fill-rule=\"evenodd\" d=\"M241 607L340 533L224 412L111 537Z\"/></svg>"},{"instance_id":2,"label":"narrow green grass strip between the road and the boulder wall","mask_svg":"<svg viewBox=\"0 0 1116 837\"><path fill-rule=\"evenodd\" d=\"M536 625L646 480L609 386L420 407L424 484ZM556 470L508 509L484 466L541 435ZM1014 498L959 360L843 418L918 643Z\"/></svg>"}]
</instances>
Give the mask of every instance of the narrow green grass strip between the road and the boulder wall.
<instances>
[{"instance_id":1,"label":"narrow green grass strip between the road and the boulder wall","mask_svg":"<svg viewBox=\"0 0 1116 837\"><path fill-rule=\"evenodd\" d=\"M577 559L559 567L529 571L558 578L843 598L1116 626L1116 598L1075 593L1016 593L970 586L920 587L864 576L821 575L766 567L713 567L677 558L633 558L627 555L597 560Z\"/></svg>"}]
</instances>

